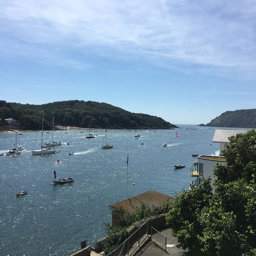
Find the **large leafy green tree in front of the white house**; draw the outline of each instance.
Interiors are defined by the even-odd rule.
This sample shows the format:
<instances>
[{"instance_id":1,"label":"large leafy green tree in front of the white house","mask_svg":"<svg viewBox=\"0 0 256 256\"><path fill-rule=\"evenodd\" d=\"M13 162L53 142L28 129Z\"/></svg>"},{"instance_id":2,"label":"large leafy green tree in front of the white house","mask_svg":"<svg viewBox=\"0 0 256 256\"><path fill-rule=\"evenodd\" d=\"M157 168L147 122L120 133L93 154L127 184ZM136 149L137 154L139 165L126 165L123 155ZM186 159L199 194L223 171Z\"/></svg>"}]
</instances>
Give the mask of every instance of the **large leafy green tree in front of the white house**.
<instances>
[{"instance_id":1,"label":"large leafy green tree in front of the white house","mask_svg":"<svg viewBox=\"0 0 256 256\"><path fill-rule=\"evenodd\" d=\"M167 216L179 247L206 255L253 255L256 241L256 131L230 137L227 164L198 188L183 191Z\"/></svg>"}]
</instances>

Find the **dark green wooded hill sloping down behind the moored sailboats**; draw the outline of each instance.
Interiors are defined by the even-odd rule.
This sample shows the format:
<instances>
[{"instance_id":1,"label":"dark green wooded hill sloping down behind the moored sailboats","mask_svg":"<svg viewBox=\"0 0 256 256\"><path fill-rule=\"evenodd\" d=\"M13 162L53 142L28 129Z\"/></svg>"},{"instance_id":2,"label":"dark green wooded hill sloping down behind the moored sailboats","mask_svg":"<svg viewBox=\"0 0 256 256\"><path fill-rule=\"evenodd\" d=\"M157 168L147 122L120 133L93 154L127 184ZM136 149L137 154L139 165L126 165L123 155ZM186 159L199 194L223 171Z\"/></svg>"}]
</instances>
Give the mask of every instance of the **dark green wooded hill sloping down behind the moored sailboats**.
<instances>
[{"instance_id":1,"label":"dark green wooded hill sloping down behind the moored sailboats","mask_svg":"<svg viewBox=\"0 0 256 256\"><path fill-rule=\"evenodd\" d=\"M177 127L160 117L135 114L106 103L68 100L43 105L7 103L0 100L0 119L14 118L24 129L37 130L42 113L46 127L52 121L61 126L114 129L169 129Z\"/></svg>"}]
</instances>

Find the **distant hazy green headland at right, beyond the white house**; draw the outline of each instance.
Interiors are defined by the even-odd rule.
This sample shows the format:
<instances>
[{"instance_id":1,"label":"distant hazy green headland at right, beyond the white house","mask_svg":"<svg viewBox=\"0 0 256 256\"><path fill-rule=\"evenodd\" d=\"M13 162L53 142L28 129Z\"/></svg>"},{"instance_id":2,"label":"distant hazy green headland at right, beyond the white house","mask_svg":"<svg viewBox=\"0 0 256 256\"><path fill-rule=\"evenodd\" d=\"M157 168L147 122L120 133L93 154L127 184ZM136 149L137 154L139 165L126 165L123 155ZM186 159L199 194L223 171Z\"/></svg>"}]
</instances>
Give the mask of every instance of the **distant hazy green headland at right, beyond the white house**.
<instances>
[{"instance_id":1,"label":"distant hazy green headland at right, beyond the white house","mask_svg":"<svg viewBox=\"0 0 256 256\"><path fill-rule=\"evenodd\" d=\"M256 128L256 109L227 111L214 118L206 126Z\"/></svg>"}]
</instances>

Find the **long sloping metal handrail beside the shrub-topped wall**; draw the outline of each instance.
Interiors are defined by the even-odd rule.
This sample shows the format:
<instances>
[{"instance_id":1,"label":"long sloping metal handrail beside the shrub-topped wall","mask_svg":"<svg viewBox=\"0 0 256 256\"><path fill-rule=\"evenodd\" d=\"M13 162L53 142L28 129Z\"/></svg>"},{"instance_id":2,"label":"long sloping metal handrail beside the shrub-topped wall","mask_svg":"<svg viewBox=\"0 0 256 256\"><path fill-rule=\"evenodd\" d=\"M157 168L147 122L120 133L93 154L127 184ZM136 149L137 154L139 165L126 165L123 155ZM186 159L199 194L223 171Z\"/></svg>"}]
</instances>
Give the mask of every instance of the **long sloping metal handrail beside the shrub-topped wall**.
<instances>
[{"instance_id":1,"label":"long sloping metal handrail beside the shrub-topped wall","mask_svg":"<svg viewBox=\"0 0 256 256\"><path fill-rule=\"evenodd\" d=\"M141 237L140 237L140 230L145 226L145 224L148 224L148 220L146 222L144 222L140 228L138 228L132 235L130 235L122 244L120 244L120 246L118 246L114 251L110 252L107 256L115 256L115 255L118 255L118 256L124 256L124 255L127 255L129 256L129 252L130 250L132 249L133 245L135 243L132 242L132 244L130 244L130 240L132 240L132 238L134 238L134 236L136 236L138 234L138 239L136 239L136 241L138 240L138 243L140 242L140 238L142 238L145 234L148 234L148 227L147 227L147 231L145 234L143 234ZM135 240L134 240L135 241ZM121 250L120 250L121 248ZM125 250L126 249L126 250ZM118 253L118 254L116 254Z\"/></svg>"}]
</instances>

